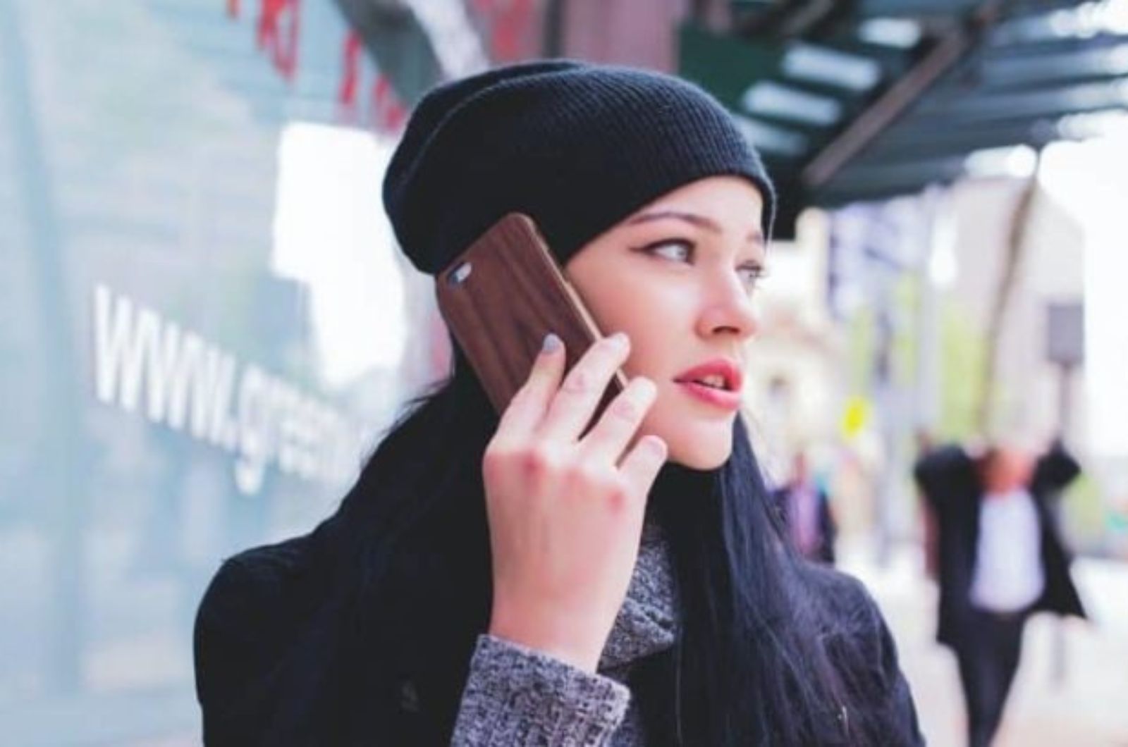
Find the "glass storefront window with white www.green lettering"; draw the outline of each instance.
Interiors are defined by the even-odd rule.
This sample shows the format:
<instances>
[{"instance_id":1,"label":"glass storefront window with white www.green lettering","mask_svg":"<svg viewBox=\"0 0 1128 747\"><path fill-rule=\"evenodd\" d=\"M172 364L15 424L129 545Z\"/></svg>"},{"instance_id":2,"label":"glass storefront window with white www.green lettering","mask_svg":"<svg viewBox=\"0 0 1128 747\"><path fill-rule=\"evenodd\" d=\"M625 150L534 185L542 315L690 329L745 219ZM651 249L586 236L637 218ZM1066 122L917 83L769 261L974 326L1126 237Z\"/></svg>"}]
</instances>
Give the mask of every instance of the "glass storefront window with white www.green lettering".
<instances>
[{"instance_id":1,"label":"glass storefront window with white www.green lettering","mask_svg":"<svg viewBox=\"0 0 1128 747\"><path fill-rule=\"evenodd\" d=\"M332 0L0 0L0 723L199 741L195 607L441 376Z\"/></svg>"}]
</instances>

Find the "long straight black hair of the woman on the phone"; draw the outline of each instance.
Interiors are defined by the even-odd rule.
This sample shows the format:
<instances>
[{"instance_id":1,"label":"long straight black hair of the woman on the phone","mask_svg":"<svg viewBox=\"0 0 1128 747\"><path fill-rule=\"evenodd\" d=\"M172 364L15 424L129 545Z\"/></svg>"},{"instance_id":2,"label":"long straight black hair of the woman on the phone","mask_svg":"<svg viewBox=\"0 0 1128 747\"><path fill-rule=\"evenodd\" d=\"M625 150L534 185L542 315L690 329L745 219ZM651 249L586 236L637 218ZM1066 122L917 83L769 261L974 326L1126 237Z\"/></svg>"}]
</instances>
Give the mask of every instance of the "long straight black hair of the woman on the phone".
<instances>
[{"instance_id":1,"label":"long straight black hair of the woman on the phone","mask_svg":"<svg viewBox=\"0 0 1128 747\"><path fill-rule=\"evenodd\" d=\"M360 574L367 650L356 659L376 667L384 686L416 684L434 744L448 744L476 636L488 624L481 459L496 422L456 349L451 377L406 410L337 516L336 544ZM631 683L650 739L867 744L857 710L844 733L851 687L825 645L834 621L782 539L739 418L733 441L721 468L670 464L651 491L647 511L666 529L680 625L673 650L638 667Z\"/></svg>"}]
</instances>

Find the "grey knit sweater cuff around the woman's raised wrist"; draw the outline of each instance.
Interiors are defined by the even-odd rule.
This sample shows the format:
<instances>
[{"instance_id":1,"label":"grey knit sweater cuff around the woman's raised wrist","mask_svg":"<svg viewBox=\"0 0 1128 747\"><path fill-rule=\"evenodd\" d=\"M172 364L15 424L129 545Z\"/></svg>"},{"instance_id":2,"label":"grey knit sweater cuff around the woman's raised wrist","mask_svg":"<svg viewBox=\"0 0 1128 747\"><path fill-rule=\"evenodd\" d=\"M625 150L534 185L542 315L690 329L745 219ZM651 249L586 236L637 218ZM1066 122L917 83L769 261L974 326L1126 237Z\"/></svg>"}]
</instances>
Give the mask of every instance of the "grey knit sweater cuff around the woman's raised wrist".
<instances>
[{"instance_id":1,"label":"grey knit sweater cuff around the woman's raised wrist","mask_svg":"<svg viewBox=\"0 0 1128 747\"><path fill-rule=\"evenodd\" d=\"M608 677L482 635L451 747L599 747L629 700L629 689Z\"/></svg>"}]
</instances>

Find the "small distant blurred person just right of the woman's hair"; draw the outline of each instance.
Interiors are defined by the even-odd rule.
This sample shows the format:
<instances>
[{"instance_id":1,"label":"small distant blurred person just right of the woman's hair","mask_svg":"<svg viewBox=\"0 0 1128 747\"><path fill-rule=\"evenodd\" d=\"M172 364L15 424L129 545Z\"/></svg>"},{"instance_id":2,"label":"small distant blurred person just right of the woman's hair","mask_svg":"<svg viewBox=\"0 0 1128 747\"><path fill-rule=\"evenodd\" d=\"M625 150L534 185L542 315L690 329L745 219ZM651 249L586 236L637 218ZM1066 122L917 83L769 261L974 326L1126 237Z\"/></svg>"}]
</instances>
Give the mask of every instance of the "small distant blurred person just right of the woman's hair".
<instances>
[{"instance_id":1,"label":"small distant blurred person just right of the woman's hair","mask_svg":"<svg viewBox=\"0 0 1128 747\"><path fill-rule=\"evenodd\" d=\"M832 565L837 526L830 496L814 478L802 449L792 456L791 475L776 489L775 501L795 551L808 560Z\"/></svg>"}]
</instances>

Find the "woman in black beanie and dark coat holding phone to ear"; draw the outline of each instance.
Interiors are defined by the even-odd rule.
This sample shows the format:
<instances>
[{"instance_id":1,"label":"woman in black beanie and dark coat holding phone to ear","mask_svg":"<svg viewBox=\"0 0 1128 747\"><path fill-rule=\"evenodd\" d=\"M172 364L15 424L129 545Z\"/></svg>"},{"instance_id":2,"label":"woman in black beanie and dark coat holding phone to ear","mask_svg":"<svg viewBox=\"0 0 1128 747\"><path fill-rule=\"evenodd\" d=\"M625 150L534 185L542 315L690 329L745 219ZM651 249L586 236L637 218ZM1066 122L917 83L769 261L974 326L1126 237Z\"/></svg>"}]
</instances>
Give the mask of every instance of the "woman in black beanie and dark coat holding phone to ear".
<instances>
[{"instance_id":1,"label":"woman in black beanie and dark coat holding phone to ear","mask_svg":"<svg viewBox=\"0 0 1128 747\"><path fill-rule=\"evenodd\" d=\"M209 745L904 745L870 597L779 541L737 403L774 194L675 78L567 61L440 87L385 182L437 273L532 217L609 336L499 419L456 349L340 510L220 570ZM584 433L613 372L629 386Z\"/></svg>"}]
</instances>

